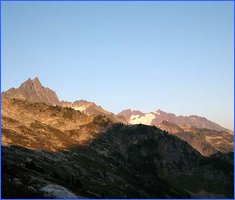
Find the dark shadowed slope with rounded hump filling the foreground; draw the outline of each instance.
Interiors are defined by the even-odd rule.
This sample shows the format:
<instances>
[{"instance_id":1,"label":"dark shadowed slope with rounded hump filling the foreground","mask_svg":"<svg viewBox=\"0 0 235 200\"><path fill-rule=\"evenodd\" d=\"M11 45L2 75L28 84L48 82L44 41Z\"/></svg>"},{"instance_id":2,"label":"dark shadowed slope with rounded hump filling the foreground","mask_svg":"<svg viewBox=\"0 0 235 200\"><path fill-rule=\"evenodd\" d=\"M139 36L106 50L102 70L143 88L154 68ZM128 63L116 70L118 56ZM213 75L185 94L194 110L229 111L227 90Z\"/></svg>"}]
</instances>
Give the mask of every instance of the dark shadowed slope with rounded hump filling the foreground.
<instances>
[{"instance_id":1,"label":"dark shadowed slope with rounded hump filling the foreground","mask_svg":"<svg viewBox=\"0 0 235 200\"><path fill-rule=\"evenodd\" d=\"M15 194L5 186L12 180L18 191L56 185L77 197L233 197L233 153L203 157L156 127L114 124L88 145L54 153L2 148L5 196Z\"/></svg>"}]
</instances>

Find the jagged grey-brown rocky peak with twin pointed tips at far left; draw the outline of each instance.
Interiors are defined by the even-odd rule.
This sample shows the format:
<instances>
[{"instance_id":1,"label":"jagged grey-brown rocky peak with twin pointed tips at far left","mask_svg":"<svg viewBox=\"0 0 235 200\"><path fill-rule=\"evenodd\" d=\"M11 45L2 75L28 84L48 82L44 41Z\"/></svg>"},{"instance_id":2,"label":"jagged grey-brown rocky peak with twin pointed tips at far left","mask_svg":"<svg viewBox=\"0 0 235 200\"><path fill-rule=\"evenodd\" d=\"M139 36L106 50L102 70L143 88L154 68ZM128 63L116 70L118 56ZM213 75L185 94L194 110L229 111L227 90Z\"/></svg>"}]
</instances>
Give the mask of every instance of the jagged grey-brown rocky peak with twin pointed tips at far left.
<instances>
[{"instance_id":1,"label":"jagged grey-brown rocky peak with twin pointed tips at far left","mask_svg":"<svg viewBox=\"0 0 235 200\"><path fill-rule=\"evenodd\" d=\"M43 87L38 78L28 79L19 88L11 88L2 93L3 97L43 102L50 105L59 104L59 99L54 91Z\"/></svg>"}]
</instances>

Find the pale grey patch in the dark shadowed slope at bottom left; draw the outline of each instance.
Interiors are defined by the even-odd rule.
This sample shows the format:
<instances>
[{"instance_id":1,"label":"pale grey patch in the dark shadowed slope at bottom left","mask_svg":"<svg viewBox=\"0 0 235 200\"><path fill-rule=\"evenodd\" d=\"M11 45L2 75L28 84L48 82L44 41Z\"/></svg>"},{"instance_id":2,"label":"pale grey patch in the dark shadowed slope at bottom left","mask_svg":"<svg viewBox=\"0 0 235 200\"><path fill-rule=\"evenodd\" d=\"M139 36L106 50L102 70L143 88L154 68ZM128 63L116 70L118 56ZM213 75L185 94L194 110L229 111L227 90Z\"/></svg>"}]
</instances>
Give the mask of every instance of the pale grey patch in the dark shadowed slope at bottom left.
<instances>
[{"instance_id":1,"label":"pale grey patch in the dark shadowed slope at bottom left","mask_svg":"<svg viewBox=\"0 0 235 200\"><path fill-rule=\"evenodd\" d=\"M60 185L51 184L41 188L40 190L48 193L49 195L53 195L54 198L78 198L67 188L62 187Z\"/></svg>"}]
</instances>

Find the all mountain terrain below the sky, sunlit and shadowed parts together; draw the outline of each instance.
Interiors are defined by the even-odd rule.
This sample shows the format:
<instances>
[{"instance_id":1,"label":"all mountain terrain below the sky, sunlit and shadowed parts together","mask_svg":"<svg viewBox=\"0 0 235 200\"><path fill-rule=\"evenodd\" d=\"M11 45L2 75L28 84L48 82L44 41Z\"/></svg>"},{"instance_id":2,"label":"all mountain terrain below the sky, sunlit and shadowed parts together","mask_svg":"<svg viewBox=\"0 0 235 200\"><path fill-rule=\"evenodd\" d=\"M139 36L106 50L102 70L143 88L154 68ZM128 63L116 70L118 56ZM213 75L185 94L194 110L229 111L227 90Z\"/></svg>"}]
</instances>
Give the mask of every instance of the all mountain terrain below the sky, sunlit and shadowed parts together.
<instances>
[{"instance_id":1,"label":"all mountain terrain below the sky, sunlit and shadowed parts together","mask_svg":"<svg viewBox=\"0 0 235 200\"><path fill-rule=\"evenodd\" d=\"M38 78L2 93L3 198L233 198L233 174L233 135L205 118L115 115Z\"/></svg>"}]
</instances>

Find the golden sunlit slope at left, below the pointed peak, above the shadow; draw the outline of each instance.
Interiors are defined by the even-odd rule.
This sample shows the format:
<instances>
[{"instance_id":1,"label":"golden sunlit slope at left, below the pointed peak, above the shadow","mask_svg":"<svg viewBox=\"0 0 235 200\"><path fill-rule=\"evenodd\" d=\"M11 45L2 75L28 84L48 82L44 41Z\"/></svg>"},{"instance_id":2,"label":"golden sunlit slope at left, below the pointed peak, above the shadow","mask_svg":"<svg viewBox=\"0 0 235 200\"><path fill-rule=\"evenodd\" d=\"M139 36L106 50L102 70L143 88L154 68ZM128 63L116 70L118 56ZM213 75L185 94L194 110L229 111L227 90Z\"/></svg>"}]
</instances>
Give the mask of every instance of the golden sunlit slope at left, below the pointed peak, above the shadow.
<instances>
[{"instance_id":1,"label":"golden sunlit slope at left, below the pointed peak, above the shadow","mask_svg":"<svg viewBox=\"0 0 235 200\"><path fill-rule=\"evenodd\" d=\"M85 144L109 124L111 121L101 115L2 98L2 144L55 151Z\"/></svg>"}]
</instances>

